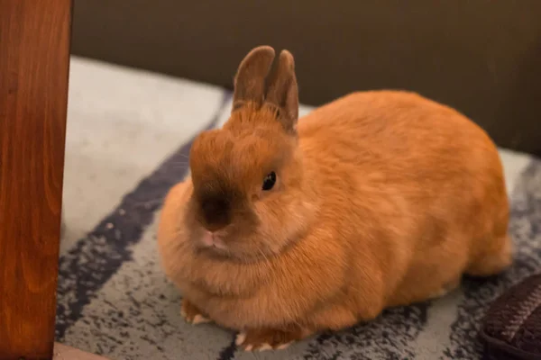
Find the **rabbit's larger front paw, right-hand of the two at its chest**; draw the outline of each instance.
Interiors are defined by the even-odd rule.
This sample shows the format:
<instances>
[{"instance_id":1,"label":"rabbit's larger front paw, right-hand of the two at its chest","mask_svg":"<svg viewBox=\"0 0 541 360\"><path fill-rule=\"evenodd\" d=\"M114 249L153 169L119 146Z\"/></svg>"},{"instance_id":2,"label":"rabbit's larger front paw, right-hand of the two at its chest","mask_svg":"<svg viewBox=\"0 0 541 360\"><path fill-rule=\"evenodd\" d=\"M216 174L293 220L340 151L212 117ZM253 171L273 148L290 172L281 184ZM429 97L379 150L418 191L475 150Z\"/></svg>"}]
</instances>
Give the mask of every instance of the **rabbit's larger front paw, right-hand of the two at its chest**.
<instances>
[{"instance_id":1,"label":"rabbit's larger front paw, right-hand of the two at its chest","mask_svg":"<svg viewBox=\"0 0 541 360\"><path fill-rule=\"evenodd\" d=\"M306 336L307 331L297 326L288 329L249 329L237 335L235 344L245 351L282 350Z\"/></svg>"}]
</instances>

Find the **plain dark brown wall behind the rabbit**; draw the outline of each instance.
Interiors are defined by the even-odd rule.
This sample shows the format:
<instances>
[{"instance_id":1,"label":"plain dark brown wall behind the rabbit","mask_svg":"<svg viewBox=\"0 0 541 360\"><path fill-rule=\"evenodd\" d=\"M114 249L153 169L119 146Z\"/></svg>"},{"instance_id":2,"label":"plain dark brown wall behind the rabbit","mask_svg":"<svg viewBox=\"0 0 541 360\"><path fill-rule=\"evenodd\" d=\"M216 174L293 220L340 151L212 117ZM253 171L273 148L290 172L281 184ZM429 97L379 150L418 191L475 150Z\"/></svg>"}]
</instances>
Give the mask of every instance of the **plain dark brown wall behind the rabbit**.
<instances>
[{"instance_id":1,"label":"plain dark brown wall behind the rabbit","mask_svg":"<svg viewBox=\"0 0 541 360\"><path fill-rule=\"evenodd\" d=\"M303 103L414 90L541 154L539 0L75 0L86 57L229 87L260 44L293 52Z\"/></svg>"}]
</instances>

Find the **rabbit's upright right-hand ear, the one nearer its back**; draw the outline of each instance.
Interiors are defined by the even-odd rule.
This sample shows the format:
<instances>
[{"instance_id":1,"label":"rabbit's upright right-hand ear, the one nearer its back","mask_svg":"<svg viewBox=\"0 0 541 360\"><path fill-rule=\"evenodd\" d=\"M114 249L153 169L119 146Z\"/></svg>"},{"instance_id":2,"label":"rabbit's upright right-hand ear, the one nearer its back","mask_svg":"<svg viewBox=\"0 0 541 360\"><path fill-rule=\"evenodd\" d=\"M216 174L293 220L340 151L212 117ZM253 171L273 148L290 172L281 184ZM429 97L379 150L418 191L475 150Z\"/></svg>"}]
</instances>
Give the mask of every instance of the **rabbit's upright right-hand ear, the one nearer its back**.
<instances>
[{"instance_id":1,"label":"rabbit's upright right-hand ear, the one nearer its back","mask_svg":"<svg viewBox=\"0 0 541 360\"><path fill-rule=\"evenodd\" d=\"M266 103L278 109L278 120L282 122L284 129L295 132L298 120L298 86L295 60L288 50L280 52L278 65L268 85Z\"/></svg>"}]
</instances>

